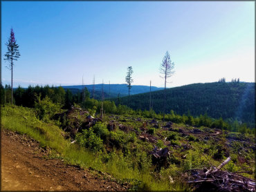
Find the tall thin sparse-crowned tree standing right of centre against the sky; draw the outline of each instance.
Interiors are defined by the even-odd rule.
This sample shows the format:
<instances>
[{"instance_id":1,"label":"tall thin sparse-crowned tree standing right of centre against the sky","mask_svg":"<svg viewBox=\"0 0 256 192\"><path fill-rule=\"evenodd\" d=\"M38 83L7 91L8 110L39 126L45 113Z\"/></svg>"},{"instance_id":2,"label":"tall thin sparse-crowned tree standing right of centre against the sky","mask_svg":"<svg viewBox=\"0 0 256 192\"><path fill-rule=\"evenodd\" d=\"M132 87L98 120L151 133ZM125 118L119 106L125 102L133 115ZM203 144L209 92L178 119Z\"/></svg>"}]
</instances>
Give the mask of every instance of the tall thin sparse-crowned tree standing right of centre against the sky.
<instances>
[{"instance_id":1,"label":"tall thin sparse-crowned tree standing right of centre against the sky","mask_svg":"<svg viewBox=\"0 0 256 192\"><path fill-rule=\"evenodd\" d=\"M165 121L165 108L166 108L166 82L169 77L172 77L174 74L174 62L170 59L170 54L167 51L165 56L163 57L161 66L160 66L160 73L163 74L162 77L165 79L165 91L164 91L164 105L163 105L163 121Z\"/></svg>"}]
</instances>

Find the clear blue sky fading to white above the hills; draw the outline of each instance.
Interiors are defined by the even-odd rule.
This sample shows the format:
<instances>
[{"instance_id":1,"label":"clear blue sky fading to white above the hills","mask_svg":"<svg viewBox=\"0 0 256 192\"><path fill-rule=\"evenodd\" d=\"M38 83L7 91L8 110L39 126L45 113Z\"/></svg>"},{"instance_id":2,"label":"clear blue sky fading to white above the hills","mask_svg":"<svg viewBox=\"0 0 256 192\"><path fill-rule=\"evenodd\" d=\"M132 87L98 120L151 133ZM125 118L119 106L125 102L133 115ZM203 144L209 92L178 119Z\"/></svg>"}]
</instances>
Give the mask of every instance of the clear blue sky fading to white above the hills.
<instances>
[{"instance_id":1,"label":"clear blue sky fading to white above the hills","mask_svg":"<svg viewBox=\"0 0 256 192\"><path fill-rule=\"evenodd\" d=\"M172 84L255 81L254 1L2 1L1 75L10 28L21 57L14 86L134 84L164 86L159 66L168 50Z\"/></svg>"}]
</instances>

